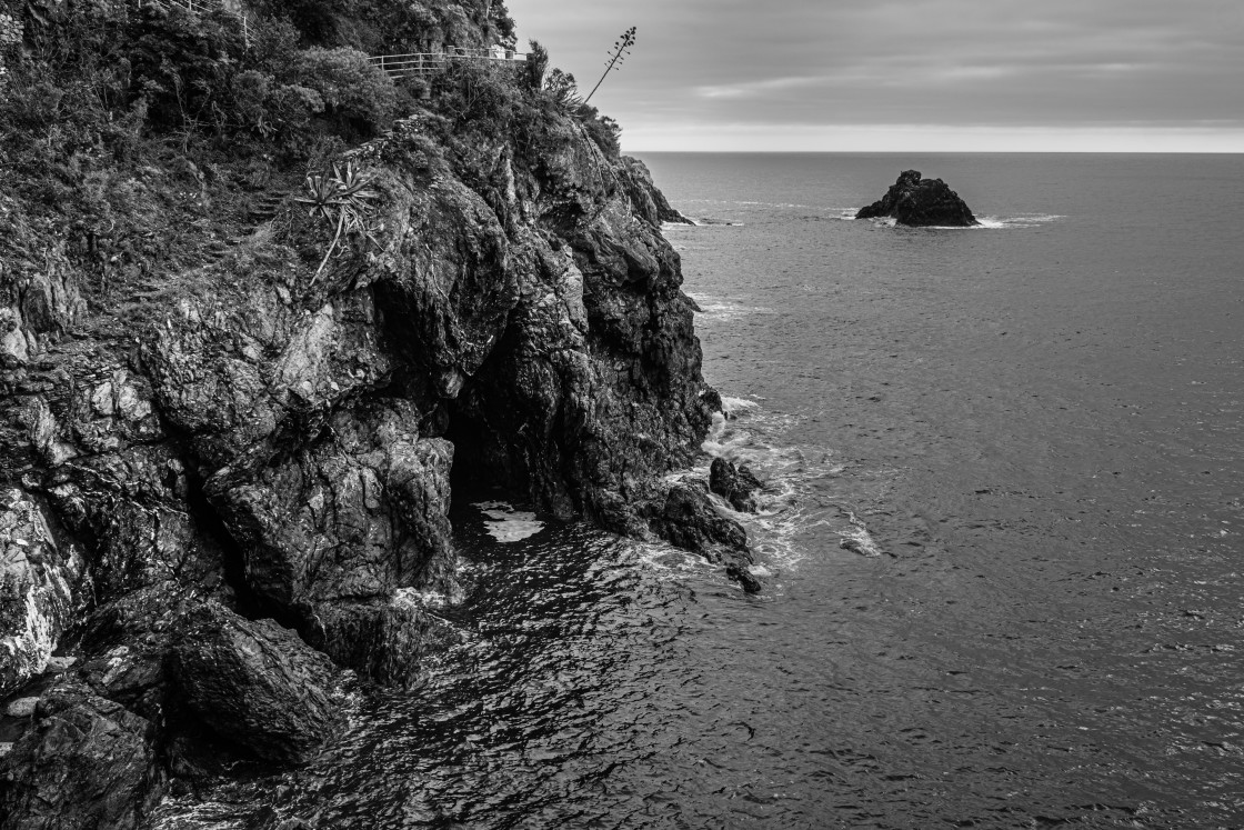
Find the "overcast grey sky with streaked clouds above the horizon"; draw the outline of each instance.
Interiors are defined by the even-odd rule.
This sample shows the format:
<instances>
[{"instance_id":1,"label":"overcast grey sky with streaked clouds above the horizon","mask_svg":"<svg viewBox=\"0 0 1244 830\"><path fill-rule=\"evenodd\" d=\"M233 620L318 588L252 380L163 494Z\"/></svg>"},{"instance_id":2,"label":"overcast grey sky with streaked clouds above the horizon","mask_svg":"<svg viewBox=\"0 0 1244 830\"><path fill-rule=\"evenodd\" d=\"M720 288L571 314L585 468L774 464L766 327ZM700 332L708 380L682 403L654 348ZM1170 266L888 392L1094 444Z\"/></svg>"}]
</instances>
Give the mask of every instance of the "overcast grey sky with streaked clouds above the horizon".
<instances>
[{"instance_id":1,"label":"overcast grey sky with streaked clouds above the horizon","mask_svg":"<svg viewBox=\"0 0 1244 830\"><path fill-rule=\"evenodd\" d=\"M1244 152L1244 0L508 0L627 151Z\"/></svg>"}]
</instances>

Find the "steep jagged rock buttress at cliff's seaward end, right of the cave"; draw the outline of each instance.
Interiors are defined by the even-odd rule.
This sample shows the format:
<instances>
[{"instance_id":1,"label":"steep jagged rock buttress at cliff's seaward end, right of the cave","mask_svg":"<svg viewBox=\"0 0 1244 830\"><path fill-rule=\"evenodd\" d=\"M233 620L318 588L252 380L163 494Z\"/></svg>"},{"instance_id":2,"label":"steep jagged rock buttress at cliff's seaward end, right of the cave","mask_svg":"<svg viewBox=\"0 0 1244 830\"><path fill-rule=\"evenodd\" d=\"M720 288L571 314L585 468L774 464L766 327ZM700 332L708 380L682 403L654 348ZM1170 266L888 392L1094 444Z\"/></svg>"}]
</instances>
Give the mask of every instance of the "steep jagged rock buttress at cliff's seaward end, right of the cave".
<instances>
[{"instance_id":1,"label":"steep jagged rock buttress at cliff's seaward end, right of the cave","mask_svg":"<svg viewBox=\"0 0 1244 830\"><path fill-rule=\"evenodd\" d=\"M636 501L689 462L710 423L692 304L661 217L642 207L653 200L631 195L651 188L642 164L610 164L573 136L546 141L565 148L516 173L537 204L535 228L515 234L520 299L454 402L450 437L481 482L642 533ZM585 194L600 194L595 208Z\"/></svg>"}]
</instances>

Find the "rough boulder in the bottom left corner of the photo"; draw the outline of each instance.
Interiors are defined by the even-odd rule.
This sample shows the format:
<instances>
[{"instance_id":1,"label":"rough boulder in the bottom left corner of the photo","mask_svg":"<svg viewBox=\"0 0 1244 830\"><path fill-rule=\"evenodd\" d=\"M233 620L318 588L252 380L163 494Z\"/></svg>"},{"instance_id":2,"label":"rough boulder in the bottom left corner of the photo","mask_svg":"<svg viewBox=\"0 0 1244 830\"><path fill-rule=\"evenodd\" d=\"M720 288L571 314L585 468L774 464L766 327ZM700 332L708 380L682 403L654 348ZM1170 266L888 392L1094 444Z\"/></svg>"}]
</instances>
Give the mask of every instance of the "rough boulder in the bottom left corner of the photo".
<instances>
[{"instance_id":1,"label":"rough boulder in the bottom left corner of the photo","mask_svg":"<svg viewBox=\"0 0 1244 830\"><path fill-rule=\"evenodd\" d=\"M0 826L132 830L160 793L152 723L75 681L49 689L0 758Z\"/></svg>"}]
</instances>

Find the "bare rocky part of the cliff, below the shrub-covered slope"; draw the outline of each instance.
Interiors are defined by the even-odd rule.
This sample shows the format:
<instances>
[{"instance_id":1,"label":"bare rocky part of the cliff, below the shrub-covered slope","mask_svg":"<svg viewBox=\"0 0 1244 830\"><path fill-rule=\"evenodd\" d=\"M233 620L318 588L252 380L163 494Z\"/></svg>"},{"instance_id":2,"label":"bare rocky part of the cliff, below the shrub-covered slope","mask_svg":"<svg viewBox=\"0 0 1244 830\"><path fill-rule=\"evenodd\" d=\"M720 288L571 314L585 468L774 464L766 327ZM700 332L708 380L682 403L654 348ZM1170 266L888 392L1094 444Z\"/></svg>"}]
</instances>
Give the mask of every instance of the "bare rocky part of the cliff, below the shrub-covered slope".
<instances>
[{"instance_id":1,"label":"bare rocky part of the cliff, below the shrub-covered slope","mask_svg":"<svg viewBox=\"0 0 1244 830\"><path fill-rule=\"evenodd\" d=\"M0 205L0 693L39 698L0 724L4 826L138 826L169 780L299 764L358 683L414 682L452 640L425 597L458 594L454 500L756 587L743 530L662 480L719 398L643 166L555 110L469 142L423 112L337 162L378 198L322 271L295 192L90 309Z\"/></svg>"}]
</instances>

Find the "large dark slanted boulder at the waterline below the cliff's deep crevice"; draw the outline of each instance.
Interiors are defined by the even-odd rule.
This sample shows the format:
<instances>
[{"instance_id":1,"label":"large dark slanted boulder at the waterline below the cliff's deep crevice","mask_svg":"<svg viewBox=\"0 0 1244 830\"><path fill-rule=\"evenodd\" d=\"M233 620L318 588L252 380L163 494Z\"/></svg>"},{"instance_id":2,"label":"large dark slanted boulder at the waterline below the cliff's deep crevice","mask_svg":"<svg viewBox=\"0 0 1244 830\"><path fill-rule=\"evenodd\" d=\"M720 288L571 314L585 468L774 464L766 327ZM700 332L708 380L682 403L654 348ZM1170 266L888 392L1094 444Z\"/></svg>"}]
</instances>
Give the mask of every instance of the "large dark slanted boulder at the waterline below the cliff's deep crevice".
<instances>
[{"instance_id":1,"label":"large dark slanted boulder at the waterline below the cliff's deep crevice","mask_svg":"<svg viewBox=\"0 0 1244 830\"><path fill-rule=\"evenodd\" d=\"M345 714L342 676L327 657L271 620L251 622L216 602L188 617L173 666L190 711L264 760L310 760Z\"/></svg>"}]
</instances>

